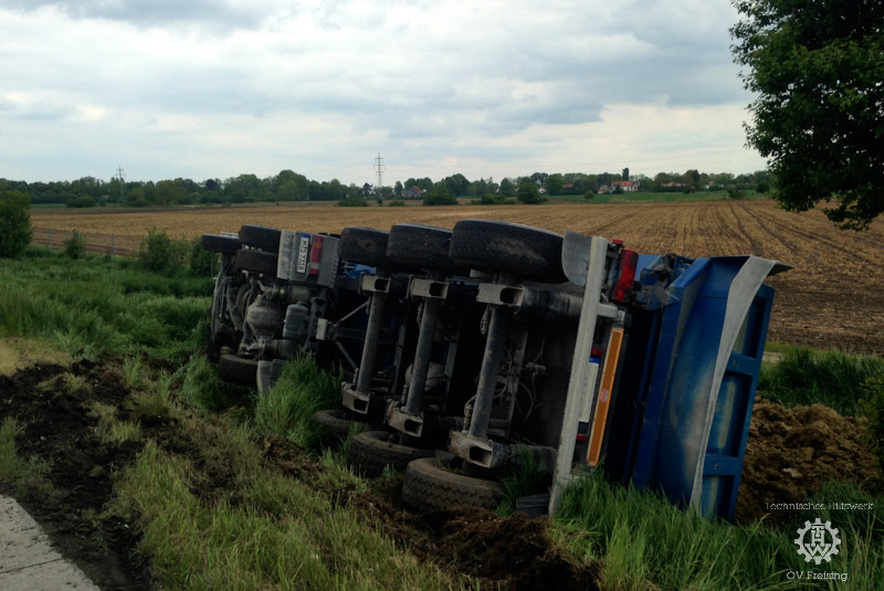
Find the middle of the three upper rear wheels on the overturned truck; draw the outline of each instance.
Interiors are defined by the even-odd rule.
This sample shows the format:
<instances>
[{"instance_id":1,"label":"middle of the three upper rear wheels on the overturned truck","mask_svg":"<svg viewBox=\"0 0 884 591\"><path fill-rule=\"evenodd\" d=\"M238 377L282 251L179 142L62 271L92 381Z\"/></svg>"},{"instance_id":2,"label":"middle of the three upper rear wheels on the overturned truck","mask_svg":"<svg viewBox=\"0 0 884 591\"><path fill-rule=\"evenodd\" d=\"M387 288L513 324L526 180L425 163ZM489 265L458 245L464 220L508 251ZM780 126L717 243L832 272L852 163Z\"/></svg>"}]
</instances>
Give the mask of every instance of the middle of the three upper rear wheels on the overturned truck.
<instances>
[{"instance_id":1,"label":"middle of the three upper rear wheels on the overturned truck","mask_svg":"<svg viewBox=\"0 0 884 591\"><path fill-rule=\"evenodd\" d=\"M430 270L444 271L452 275L469 275L449 256L451 230L433 225L403 223L390 229L387 256L394 263Z\"/></svg>"}]
</instances>

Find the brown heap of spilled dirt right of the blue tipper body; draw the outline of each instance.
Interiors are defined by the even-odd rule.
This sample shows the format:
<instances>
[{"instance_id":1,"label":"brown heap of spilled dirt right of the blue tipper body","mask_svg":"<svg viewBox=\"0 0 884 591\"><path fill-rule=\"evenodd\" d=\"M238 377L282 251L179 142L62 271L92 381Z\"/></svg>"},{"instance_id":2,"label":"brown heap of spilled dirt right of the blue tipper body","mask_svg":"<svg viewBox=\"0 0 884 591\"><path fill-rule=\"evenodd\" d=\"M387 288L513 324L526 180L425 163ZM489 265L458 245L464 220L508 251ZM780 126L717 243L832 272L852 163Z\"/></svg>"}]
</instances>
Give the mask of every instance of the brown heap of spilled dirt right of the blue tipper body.
<instances>
[{"instance_id":1,"label":"brown heap of spilled dirt right of the blue tipper body","mask_svg":"<svg viewBox=\"0 0 884 591\"><path fill-rule=\"evenodd\" d=\"M794 511L770 511L768 505L806 502L831 481L854 481L874 489L881 477L863 420L841 416L822 404L787 409L757 398L746 444L737 521L768 513L771 521L790 519Z\"/></svg>"}]
</instances>

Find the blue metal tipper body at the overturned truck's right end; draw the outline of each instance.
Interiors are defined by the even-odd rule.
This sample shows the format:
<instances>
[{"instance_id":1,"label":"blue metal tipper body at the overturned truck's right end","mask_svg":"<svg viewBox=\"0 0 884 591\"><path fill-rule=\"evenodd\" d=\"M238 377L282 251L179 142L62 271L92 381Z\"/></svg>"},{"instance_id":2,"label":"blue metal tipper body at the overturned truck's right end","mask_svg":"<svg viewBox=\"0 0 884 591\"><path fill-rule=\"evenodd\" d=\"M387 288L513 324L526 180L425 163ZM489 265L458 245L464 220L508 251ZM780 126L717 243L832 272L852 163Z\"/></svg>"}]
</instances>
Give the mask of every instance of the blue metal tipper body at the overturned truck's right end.
<instances>
[{"instance_id":1,"label":"blue metal tipper body at the overturned truck's right end","mask_svg":"<svg viewBox=\"0 0 884 591\"><path fill-rule=\"evenodd\" d=\"M644 413L632 482L728 519L736 507L772 299L772 289L761 286L751 295L743 326L734 324L733 315L748 303L728 298L748 260L698 258L670 285L659 338L648 344L655 352L646 394L636 397L644 399ZM745 287L760 278L744 275L740 281Z\"/></svg>"}]
</instances>

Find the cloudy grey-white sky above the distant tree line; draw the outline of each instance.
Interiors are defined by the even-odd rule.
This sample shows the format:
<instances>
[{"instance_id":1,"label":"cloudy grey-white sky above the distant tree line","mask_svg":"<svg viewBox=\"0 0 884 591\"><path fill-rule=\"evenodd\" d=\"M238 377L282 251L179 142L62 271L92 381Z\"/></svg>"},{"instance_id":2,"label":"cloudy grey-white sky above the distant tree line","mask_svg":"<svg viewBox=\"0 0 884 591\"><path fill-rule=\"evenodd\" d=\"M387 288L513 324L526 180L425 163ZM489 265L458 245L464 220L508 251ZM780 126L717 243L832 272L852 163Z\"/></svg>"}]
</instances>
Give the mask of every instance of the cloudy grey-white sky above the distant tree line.
<instances>
[{"instance_id":1,"label":"cloudy grey-white sky above the distant tree line","mask_svg":"<svg viewBox=\"0 0 884 591\"><path fill-rule=\"evenodd\" d=\"M728 0L0 0L0 178L751 172Z\"/></svg>"}]
</instances>

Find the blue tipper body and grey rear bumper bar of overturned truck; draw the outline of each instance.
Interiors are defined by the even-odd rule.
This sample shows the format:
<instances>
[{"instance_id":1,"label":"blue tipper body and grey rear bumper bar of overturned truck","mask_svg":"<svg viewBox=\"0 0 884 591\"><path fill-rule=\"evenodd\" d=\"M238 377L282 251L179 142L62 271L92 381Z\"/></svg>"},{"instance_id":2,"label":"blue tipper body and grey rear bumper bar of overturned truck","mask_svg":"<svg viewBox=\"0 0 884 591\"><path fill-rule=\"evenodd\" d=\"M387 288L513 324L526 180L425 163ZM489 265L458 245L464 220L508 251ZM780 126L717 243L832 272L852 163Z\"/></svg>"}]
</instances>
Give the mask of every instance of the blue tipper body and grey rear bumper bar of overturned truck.
<instances>
[{"instance_id":1,"label":"blue tipper body and grey rear bumper bar of overturned truck","mask_svg":"<svg viewBox=\"0 0 884 591\"><path fill-rule=\"evenodd\" d=\"M789 267L757 256L639 256L625 337L604 351L619 361L609 369L581 348L604 319L608 250L604 239L565 238L562 266L586 291L549 509L572 478L580 409L590 408L589 466L732 520L774 297L764 281Z\"/></svg>"}]
</instances>

